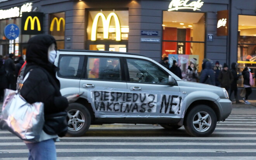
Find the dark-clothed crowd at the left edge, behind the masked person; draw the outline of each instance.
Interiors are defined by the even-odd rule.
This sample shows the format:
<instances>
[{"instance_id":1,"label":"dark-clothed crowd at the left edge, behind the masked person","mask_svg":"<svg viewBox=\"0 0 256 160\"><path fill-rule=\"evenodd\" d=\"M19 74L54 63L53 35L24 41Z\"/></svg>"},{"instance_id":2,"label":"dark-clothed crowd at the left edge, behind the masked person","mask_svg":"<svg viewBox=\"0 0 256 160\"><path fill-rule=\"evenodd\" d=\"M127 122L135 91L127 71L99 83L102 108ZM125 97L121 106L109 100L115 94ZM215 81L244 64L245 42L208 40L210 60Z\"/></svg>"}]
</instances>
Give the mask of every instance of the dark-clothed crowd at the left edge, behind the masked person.
<instances>
[{"instance_id":1,"label":"dark-clothed crowd at the left edge, behind the masked person","mask_svg":"<svg viewBox=\"0 0 256 160\"><path fill-rule=\"evenodd\" d=\"M24 64L23 58L10 53L5 58L0 55L0 102L3 102L4 89L16 90L16 81L19 70Z\"/></svg>"}]
</instances>

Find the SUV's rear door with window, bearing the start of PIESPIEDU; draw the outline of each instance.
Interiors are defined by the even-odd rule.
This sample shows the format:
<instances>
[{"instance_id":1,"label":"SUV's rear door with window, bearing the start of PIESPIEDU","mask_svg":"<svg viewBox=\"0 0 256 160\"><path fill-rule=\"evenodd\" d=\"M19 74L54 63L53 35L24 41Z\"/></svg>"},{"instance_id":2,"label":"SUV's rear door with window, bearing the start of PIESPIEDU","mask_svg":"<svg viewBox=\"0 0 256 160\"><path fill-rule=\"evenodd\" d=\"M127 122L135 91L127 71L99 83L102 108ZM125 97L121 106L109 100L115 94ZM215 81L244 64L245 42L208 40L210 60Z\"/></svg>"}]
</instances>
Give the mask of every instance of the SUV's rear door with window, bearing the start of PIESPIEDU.
<instances>
[{"instance_id":1,"label":"SUV's rear door with window, bearing the start of PIESPIEDU","mask_svg":"<svg viewBox=\"0 0 256 160\"><path fill-rule=\"evenodd\" d=\"M95 117L112 117L120 110L118 108L120 104L116 100L117 93L127 91L121 64L123 64L122 58L119 57L86 57L85 77L80 81L80 91L87 94Z\"/></svg>"}]
</instances>

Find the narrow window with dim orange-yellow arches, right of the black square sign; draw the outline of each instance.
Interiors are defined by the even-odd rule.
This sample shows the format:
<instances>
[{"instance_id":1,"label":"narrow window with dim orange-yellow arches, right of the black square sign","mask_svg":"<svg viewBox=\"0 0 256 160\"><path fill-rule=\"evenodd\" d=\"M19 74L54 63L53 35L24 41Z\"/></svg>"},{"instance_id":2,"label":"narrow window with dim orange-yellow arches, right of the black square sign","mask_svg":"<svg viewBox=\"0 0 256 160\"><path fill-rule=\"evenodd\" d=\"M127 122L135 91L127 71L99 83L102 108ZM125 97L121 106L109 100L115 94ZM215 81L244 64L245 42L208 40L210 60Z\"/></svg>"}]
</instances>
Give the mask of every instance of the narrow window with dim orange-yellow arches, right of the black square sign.
<instances>
[{"instance_id":1,"label":"narrow window with dim orange-yellow arches, right of the black square sign","mask_svg":"<svg viewBox=\"0 0 256 160\"><path fill-rule=\"evenodd\" d=\"M54 36L57 48L64 49L65 46L65 12L50 14L49 34Z\"/></svg>"}]
</instances>

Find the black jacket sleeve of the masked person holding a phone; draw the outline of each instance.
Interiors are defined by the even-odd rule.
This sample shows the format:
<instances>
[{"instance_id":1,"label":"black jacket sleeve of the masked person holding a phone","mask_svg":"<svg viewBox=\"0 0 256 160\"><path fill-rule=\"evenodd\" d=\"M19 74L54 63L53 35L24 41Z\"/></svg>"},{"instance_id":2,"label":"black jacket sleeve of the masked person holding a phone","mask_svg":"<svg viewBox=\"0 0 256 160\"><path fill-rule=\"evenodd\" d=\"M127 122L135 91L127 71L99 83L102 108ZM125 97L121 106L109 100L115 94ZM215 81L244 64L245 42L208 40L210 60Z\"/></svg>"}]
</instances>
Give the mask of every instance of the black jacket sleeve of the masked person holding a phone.
<instances>
[{"instance_id":1,"label":"black jacket sleeve of the masked person holding a phone","mask_svg":"<svg viewBox=\"0 0 256 160\"><path fill-rule=\"evenodd\" d=\"M68 106L67 98L55 96L55 88L47 75L40 69L33 69L21 89L21 96L28 103L43 102L45 113L61 112Z\"/></svg>"}]
</instances>

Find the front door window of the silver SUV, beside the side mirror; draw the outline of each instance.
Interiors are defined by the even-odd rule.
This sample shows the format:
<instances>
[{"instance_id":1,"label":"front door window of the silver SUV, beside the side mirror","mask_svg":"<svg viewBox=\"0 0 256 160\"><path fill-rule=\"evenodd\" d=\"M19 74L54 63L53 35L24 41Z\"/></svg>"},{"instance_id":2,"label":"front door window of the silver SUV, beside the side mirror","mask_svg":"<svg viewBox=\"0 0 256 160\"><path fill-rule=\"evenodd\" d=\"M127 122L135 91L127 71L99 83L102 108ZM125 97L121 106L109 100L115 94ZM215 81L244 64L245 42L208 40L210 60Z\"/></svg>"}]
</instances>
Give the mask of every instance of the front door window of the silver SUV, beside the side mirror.
<instances>
[{"instance_id":1,"label":"front door window of the silver SUV, beside the side mirror","mask_svg":"<svg viewBox=\"0 0 256 160\"><path fill-rule=\"evenodd\" d=\"M168 84L169 74L145 60L127 59L130 82Z\"/></svg>"}]
</instances>

